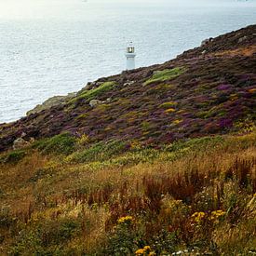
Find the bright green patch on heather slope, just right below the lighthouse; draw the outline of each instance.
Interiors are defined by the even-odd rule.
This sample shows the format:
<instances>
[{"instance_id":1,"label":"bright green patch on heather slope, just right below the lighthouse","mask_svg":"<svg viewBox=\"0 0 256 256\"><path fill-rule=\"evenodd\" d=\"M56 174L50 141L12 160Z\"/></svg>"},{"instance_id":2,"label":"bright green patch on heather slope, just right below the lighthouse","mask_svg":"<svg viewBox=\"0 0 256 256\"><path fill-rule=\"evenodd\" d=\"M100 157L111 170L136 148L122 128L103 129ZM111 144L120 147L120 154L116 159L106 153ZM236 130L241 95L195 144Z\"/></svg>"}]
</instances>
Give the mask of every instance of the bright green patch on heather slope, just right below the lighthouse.
<instances>
[{"instance_id":1,"label":"bright green patch on heather slope, just right below the lighthouse","mask_svg":"<svg viewBox=\"0 0 256 256\"><path fill-rule=\"evenodd\" d=\"M182 67L177 67L173 69L165 69L162 71L157 71L153 76L144 82L144 86L150 85L154 82L164 82L175 77L178 77L182 73L184 73L185 69Z\"/></svg>"}]
</instances>

